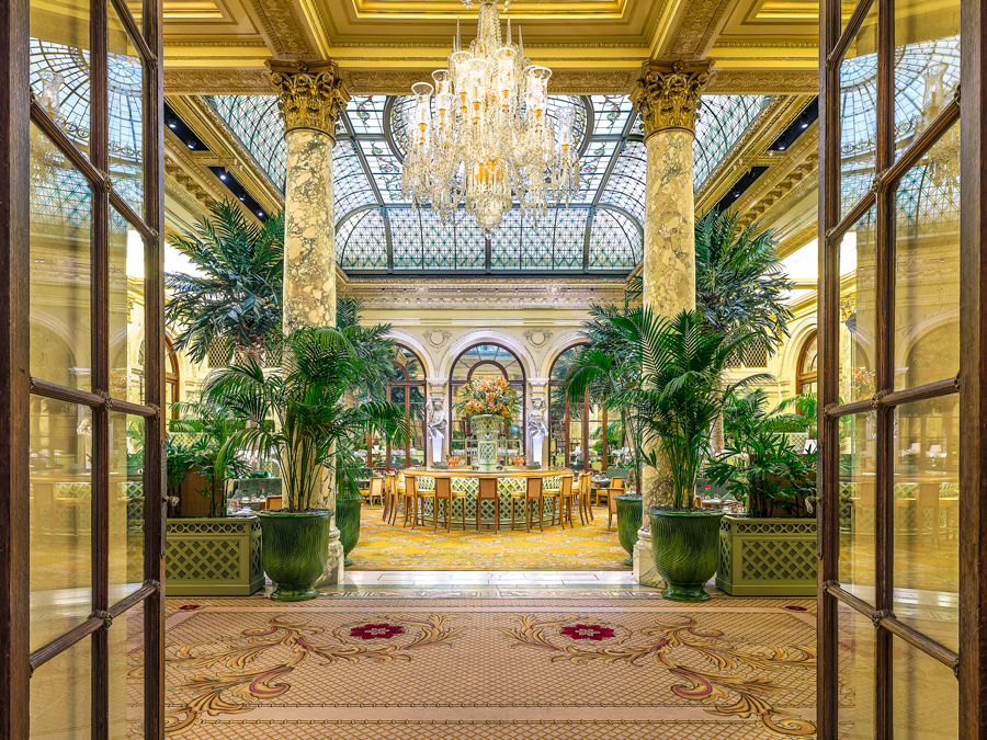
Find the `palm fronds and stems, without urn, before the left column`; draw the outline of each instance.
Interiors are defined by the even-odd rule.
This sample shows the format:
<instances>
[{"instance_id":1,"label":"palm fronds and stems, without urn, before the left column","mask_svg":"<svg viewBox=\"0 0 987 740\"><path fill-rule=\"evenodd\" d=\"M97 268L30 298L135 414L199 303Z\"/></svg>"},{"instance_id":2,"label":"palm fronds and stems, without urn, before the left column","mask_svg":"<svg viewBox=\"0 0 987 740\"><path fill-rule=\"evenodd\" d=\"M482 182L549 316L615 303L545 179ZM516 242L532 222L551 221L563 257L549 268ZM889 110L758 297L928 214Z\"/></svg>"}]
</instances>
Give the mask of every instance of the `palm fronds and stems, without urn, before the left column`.
<instances>
[{"instance_id":1,"label":"palm fronds and stems, without urn, before the left column","mask_svg":"<svg viewBox=\"0 0 987 740\"><path fill-rule=\"evenodd\" d=\"M345 493L360 467L365 430L404 442L411 434L405 409L387 401L345 402L361 377L378 368L360 356L344 331L297 329L281 340L282 367L265 373L254 358L215 372L203 397L250 422L227 442L259 456L276 456L288 511L311 508L324 467ZM388 358L389 363L389 358Z\"/></svg>"}]
</instances>

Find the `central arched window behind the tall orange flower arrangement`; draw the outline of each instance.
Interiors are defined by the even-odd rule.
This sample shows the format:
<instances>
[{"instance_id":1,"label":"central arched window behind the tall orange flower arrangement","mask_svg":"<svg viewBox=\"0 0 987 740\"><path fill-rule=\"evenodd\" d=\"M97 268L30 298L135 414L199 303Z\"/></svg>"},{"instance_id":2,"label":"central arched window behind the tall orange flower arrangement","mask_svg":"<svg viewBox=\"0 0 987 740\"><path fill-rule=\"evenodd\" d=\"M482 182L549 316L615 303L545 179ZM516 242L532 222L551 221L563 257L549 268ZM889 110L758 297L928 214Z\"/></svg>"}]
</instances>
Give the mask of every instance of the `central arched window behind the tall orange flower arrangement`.
<instances>
[{"instance_id":1,"label":"central arched window behind the tall orange flower arrangement","mask_svg":"<svg viewBox=\"0 0 987 740\"><path fill-rule=\"evenodd\" d=\"M476 378L507 378L521 396L520 419L503 425L503 434L507 437L507 446L502 453L508 457L519 457L524 454L524 429L527 417L525 403L524 368L518 356L500 344L485 342L475 344L464 350L452 366L452 375L449 384L450 408L452 409L452 434L449 436L449 454L453 456L469 456L466 440L470 434L469 423L455 410L460 401L460 389L469 380Z\"/></svg>"}]
</instances>

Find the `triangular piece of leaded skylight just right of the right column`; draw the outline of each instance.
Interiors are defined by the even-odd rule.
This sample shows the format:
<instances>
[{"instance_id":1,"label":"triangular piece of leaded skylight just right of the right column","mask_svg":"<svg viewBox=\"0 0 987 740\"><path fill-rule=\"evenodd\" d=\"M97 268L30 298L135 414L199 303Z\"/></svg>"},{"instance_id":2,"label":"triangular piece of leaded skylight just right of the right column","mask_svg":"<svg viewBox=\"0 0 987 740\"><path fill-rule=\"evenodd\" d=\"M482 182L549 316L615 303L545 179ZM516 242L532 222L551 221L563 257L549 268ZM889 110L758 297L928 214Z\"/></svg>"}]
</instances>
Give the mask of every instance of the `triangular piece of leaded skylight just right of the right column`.
<instances>
[{"instance_id":1,"label":"triangular piece of leaded skylight just right of the right column","mask_svg":"<svg viewBox=\"0 0 987 740\"><path fill-rule=\"evenodd\" d=\"M768 104L769 95L703 95L692 141L693 189L699 190Z\"/></svg>"}]
</instances>

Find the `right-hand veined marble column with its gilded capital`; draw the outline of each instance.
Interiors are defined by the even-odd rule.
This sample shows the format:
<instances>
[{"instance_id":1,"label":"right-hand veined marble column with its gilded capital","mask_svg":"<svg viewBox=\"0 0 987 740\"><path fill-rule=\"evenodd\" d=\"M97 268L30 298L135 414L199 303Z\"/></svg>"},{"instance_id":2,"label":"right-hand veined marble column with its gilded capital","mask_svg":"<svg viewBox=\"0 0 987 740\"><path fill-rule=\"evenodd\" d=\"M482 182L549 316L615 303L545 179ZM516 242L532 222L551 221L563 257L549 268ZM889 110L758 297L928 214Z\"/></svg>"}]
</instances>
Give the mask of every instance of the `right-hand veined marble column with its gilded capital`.
<instances>
[{"instance_id":1,"label":"right-hand veined marble column with its gilded capital","mask_svg":"<svg viewBox=\"0 0 987 740\"><path fill-rule=\"evenodd\" d=\"M632 94L648 151L644 243L644 305L671 318L695 308L695 200L692 141L710 62L648 61ZM649 508L668 503L671 475L659 458L644 469L645 516L634 547L634 579L663 587L651 559Z\"/></svg>"}]
</instances>

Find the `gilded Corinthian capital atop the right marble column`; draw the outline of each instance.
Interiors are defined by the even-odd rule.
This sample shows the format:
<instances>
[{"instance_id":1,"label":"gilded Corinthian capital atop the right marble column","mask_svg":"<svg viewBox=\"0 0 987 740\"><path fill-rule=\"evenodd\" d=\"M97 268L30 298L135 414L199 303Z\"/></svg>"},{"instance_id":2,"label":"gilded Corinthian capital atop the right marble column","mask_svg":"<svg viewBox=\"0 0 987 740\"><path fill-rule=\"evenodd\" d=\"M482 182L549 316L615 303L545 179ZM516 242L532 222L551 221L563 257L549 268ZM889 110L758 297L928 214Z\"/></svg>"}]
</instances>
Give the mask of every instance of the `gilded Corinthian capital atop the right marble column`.
<instances>
[{"instance_id":1,"label":"gilded Corinthian capital atop the right marble column","mask_svg":"<svg viewBox=\"0 0 987 740\"><path fill-rule=\"evenodd\" d=\"M710 80L711 61L646 61L631 100L644 124L645 138L667 128L695 133L700 95Z\"/></svg>"}]
</instances>

